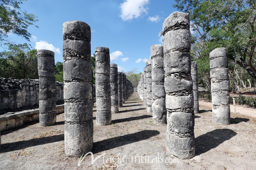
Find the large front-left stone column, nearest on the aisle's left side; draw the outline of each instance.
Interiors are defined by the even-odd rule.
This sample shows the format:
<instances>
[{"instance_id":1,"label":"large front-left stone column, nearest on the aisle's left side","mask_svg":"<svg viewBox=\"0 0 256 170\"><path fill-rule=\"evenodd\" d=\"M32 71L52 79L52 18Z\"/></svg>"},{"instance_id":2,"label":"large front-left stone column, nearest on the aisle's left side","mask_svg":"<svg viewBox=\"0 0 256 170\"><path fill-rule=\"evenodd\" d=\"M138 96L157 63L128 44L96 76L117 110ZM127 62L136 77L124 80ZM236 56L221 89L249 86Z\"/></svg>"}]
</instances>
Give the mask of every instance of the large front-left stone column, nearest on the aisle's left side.
<instances>
[{"instance_id":1,"label":"large front-left stone column, nearest on the aisle's left side","mask_svg":"<svg viewBox=\"0 0 256 170\"><path fill-rule=\"evenodd\" d=\"M79 157L92 150L91 28L82 21L63 23L65 153Z\"/></svg>"}]
</instances>

